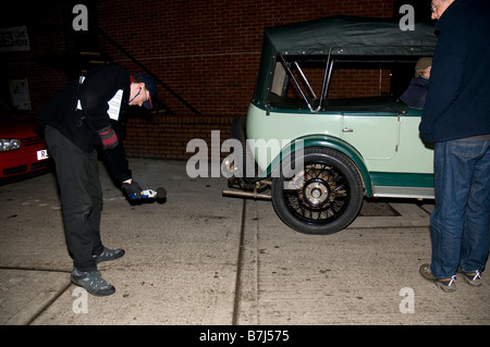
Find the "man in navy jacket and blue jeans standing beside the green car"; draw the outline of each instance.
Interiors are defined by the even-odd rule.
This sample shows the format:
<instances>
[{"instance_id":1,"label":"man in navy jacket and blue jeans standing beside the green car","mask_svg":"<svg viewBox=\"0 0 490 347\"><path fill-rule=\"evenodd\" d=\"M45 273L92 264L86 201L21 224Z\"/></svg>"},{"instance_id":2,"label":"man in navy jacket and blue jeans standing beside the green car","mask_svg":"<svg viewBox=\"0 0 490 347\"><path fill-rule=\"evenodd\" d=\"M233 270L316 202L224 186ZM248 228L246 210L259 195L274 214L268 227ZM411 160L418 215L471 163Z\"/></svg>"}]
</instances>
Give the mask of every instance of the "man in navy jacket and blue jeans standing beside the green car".
<instances>
[{"instance_id":1,"label":"man in navy jacket and blue jeans standing beside the green car","mask_svg":"<svg viewBox=\"0 0 490 347\"><path fill-rule=\"evenodd\" d=\"M481 285L489 253L490 1L433 0L438 44L420 135L434 144L432 259L420 274L454 292Z\"/></svg>"}]
</instances>

